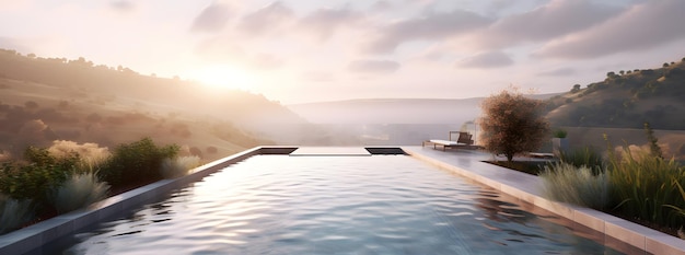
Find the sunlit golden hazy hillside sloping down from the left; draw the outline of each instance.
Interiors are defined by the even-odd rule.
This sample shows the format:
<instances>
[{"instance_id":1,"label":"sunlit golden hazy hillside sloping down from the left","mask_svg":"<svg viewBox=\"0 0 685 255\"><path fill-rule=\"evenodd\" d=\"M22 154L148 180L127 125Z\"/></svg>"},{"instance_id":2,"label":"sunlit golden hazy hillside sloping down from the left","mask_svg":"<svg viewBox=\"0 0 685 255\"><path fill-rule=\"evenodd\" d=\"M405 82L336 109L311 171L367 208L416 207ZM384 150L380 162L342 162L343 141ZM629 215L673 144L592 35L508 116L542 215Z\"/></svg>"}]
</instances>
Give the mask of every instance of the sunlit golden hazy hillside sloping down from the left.
<instances>
[{"instance_id":1,"label":"sunlit golden hazy hillside sloping down from the left","mask_svg":"<svg viewBox=\"0 0 685 255\"><path fill-rule=\"evenodd\" d=\"M213 160L277 143L271 138L285 132L278 125L306 121L244 91L141 76L83 58L0 50L0 152L16 154L53 140L113 147L151 137Z\"/></svg>"}]
</instances>

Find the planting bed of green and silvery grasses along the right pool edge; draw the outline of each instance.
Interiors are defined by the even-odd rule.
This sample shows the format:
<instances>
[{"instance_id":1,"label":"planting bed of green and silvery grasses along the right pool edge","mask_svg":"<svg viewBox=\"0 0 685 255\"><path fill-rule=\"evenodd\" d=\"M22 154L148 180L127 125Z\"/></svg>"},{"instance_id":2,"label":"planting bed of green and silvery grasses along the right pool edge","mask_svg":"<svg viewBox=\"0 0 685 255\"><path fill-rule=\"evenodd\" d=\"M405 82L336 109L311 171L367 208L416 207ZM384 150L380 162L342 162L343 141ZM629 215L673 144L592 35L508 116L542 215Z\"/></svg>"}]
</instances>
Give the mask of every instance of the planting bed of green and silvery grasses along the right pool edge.
<instances>
[{"instance_id":1,"label":"planting bed of green and silvery grasses along the right pool edge","mask_svg":"<svg viewBox=\"0 0 685 255\"><path fill-rule=\"evenodd\" d=\"M646 126L648 137L651 130ZM655 144L655 139L650 137ZM607 142L608 143L608 142ZM602 210L674 233L685 225L685 167L645 146L618 151L608 143L606 160L585 150L545 167L548 198Z\"/></svg>"}]
</instances>

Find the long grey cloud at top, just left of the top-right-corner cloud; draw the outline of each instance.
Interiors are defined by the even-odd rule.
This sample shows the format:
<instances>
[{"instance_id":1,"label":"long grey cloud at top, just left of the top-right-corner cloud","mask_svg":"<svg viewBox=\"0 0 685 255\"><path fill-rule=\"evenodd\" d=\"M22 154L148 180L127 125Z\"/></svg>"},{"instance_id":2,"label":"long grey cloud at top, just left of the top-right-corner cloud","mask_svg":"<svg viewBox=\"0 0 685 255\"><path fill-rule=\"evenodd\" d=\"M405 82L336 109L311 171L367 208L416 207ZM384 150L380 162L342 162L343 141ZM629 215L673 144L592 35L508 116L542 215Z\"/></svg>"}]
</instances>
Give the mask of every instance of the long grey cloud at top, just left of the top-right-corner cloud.
<instances>
[{"instance_id":1,"label":"long grey cloud at top, just left of the top-right-corner cloud","mask_svg":"<svg viewBox=\"0 0 685 255\"><path fill-rule=\"evenodd\" d=\"M600 24L622 10L599 1L553 0L530 12L498 20L477 37L477 42L485 48L543 42Z\"/></svg>"}]
</instances>

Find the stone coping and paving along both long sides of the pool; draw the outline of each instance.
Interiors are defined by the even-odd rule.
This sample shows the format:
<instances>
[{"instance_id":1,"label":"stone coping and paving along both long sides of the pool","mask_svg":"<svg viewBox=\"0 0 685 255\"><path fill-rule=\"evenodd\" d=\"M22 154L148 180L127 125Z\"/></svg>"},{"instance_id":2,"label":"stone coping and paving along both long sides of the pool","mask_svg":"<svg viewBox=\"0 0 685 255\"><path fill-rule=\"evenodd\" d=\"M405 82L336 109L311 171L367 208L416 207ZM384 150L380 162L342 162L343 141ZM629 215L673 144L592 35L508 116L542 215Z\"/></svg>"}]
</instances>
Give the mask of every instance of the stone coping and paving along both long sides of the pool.
<instances>
[{"instance_id":1,"label":"stone coping and paving along both long sides of the pool","mask_svg":"<svg viewBox=\"0 0 685 255\"><path fill-rule=\"evenodd\" d=\"M172 190L198 182L231 164L257 154L289 154L298 148L300 147L256 147L248 149L194 169L186 176L163 179L107 198L89 209L61 215L0 235L0 254L48 252L43 251L45 244L101 221L111 220L113 217L133 208L163 199ZM407 153L603 233L605 242L620 241L645 251L646 254L685 254L685 241L683 240L596 210L549 201L541 196L541 183L536 176L484 163L481 161L486 158L483 154L443 152L421 147L369 147L368 150L373 154Z\"/></svg>"}]
</instances>

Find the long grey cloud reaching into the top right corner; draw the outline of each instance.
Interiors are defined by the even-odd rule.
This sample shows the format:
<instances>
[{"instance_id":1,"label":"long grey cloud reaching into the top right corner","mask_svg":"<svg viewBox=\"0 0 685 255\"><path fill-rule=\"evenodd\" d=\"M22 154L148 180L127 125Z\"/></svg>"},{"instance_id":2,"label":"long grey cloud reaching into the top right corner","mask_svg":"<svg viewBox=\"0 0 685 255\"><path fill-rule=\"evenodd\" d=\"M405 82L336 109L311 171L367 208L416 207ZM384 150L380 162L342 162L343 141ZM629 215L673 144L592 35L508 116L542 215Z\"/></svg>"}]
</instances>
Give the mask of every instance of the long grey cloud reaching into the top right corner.
<instances>
[{"instance_id":1,"label":"long grey cloud reaching into the top right corner","mask_svg":"<svg viewBox=\"0 0 685 255\"><path fill-rule=\"evenodd\" d=\"M533 56L581 59L655 48L685 38L683 10L682 0L646 1L601 25L550 42Z\"/></svg>"}]
</instances>

